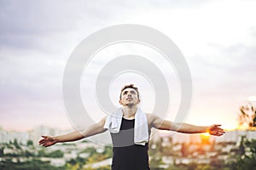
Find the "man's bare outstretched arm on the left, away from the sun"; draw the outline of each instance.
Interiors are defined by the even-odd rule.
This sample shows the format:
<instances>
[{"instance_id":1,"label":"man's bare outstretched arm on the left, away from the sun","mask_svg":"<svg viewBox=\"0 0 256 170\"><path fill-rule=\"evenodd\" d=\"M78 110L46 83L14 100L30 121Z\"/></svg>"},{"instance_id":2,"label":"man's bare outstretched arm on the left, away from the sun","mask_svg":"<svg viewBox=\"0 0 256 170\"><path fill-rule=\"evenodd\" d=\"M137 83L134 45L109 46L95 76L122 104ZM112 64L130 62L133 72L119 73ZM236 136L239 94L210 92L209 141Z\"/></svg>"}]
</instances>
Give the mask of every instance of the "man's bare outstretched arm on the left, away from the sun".
<instances>
[{"instance_id":1,"label":"man's bare outstretched arm on the left, away from the sun","mask_svg":"<svg viewBox=\"0 0 256 170\"><path fill-rule=\"evenodd\" d=\"M63 143L63 142L72 142L76 141L79 139L84 139L90 136L93 136L98 133L103 133L107 129L104 128L104 124L106 121L106 117L104 117L100 122L91 125L88 127L86 130L79 132L79 131L74 131L72 133L67 133L61 136L42 136L43 139L39 140L39 144L41 144L44 147L51 146L56 143Z\"/></svg>"}]
</instances>

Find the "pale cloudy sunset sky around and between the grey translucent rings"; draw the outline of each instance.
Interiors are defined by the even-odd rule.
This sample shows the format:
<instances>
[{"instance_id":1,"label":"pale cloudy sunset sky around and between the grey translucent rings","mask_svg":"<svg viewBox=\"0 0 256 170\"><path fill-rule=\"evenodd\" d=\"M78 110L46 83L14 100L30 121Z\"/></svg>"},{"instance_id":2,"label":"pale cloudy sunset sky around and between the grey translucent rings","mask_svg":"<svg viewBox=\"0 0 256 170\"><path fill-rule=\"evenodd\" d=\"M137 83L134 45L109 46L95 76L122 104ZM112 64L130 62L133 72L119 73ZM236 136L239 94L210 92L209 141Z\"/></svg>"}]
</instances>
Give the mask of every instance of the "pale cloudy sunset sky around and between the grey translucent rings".
<instances>
[{"instance_id":1,"label":"pale cloudy sunset sky around and between the grey translucent rings","mask_svg":"<svg viewBox=\"0 0 256 170\"><path fill-rule=\"evenodd\" d=\"M63 104L62 78L74 48L102 28L138 24L170 37L189 65L193 101L184 121L197 125L218 123L227 129L235 128L239 107L256 95L255 8L253 0L2 0L0 127L20 131L40 125L72 128L70 113ZM143 47L134 48L133 45L117 44L102 50L94 62L96 70L104 64L102 55L113 57L143 51ZM150 50L144 53L148 58L154 55ZM160 67L165 65L160 59L154 62ZM95 76L93 66L89 70L92 71L90 76ZM166 77L172 74L169 82L174 84L169 87L174 105L167 114L172 121L177 112L180 89L173 74L175 71L172 67L170 70L163 70L163 74ZM154 89L147 79L135 73L113 80L109 93L113 94L114 105L119 105L119 89L127 79L142 89L142 107L151 111L155 102ZM96 120L104 113L99 113L95 94L90 90L94 89L91 88L94 82L95 79L86 77L81 80L81 87L84 87L81 96L90 116ZM86 120L82 121L86 124Z\"/></svg>"}]
</instances>

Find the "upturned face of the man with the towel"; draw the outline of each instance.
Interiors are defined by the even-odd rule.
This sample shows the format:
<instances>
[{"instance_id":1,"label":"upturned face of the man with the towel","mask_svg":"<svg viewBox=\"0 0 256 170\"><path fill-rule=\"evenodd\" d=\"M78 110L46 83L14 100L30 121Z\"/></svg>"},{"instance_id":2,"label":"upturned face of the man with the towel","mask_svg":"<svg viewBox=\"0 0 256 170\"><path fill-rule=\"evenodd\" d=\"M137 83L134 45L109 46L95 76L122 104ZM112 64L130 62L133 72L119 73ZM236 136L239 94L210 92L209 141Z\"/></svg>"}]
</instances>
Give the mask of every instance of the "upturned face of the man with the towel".
<instances>
[{"instance_id":1,"label":"upturned face of the man with the towel","mask_svg":"<svg viewBox=\"0 0 256 170\"><path fill-rule=\"evenodd\" d=\"M125 88L119 100L120 105L137 105L140 99L137 98L137 91L133 88Z\"/></svg>"}]
</instances>

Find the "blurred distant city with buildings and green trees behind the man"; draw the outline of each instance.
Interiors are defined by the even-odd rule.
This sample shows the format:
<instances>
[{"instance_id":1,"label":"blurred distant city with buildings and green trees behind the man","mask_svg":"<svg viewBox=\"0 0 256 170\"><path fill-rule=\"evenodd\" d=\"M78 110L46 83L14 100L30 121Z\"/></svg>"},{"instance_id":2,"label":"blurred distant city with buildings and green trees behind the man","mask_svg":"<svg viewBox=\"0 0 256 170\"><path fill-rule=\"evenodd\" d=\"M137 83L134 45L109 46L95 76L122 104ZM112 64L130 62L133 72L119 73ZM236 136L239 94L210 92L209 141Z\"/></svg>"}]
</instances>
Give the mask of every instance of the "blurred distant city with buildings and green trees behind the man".
<instances>
[{"instance_id":1,"label":"blurred distant city with buildings and green trees behind the man","mask_svg":"<svg viewBox=\"0 0 256 170\"><path fill-rule=\"evenodd\" d=\"M55 136L70 131L43 126L28 132L0 129L0 167L12 167L22 163L28 165L26 162L38 161L38 166L49 163L48 166L52 167L47 168L50 169L110 169L112 149L109 145L96 144L86 139L55 144L49 148L38 145L42 134ZM229 161L236 161L236 155L241 153L243 139L256 139L256 131L236 129L227 131L222 137L213 137L207 133L153 131L149 143L150 166L155 167L152 169L172 169L173 166L186 169L193 162L213 167L219 167L223 162L221 166L224 166ZM244 153L249 156L250 148L243 147Z\"/></svg>"}]
</instances>

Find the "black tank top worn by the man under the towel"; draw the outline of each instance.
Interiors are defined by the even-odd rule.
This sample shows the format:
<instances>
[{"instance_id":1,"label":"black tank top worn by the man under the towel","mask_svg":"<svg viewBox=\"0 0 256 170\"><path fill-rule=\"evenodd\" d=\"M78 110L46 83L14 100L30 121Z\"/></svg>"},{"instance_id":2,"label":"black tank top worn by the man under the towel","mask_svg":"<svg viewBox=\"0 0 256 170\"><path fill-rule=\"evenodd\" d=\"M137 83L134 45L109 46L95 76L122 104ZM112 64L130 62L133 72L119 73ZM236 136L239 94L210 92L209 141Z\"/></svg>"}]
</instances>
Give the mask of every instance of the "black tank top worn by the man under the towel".
<instances>
[{"instance_id":1,"label":"black tank top worn by the man under the towel","mask_svg":"<svg viewBox=\"0 0 256 170\"><path fill-rule=\"evenodd\" d=\"M119 133L111 133L112 170L149 170L148 143L134 144L135 120L122 119ZM149 132L150 133L150 132Z\"/></svg>"}]
</instances>

